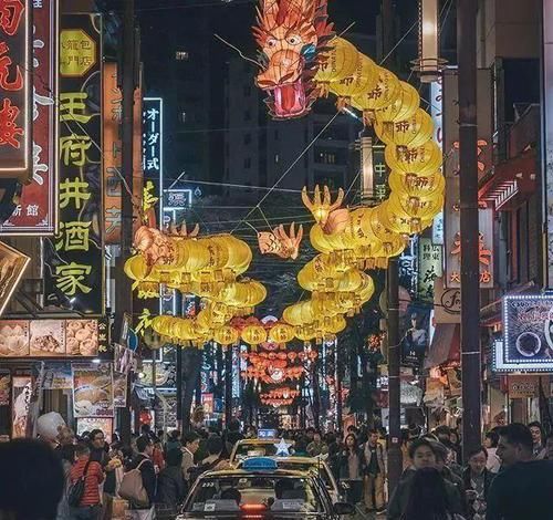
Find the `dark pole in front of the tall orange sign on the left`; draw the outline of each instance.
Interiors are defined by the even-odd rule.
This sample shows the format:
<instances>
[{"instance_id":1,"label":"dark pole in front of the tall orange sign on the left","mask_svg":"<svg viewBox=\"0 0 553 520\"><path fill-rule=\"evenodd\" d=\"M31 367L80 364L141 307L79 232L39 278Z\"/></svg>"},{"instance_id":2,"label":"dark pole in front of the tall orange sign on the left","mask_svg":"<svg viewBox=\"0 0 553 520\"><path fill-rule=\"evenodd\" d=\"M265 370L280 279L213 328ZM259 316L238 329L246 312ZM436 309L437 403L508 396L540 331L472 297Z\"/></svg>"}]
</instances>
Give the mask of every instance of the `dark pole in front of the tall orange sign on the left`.
<instances>
[{"instance_id":1,"label":"dark pole in front of the tall orange sign on the left","mask_svg":"<svg viewBox=\"0 0 553 520\"><path fill-rule=\"evenodd\" d=\"M121 253L116 271L116 330L121 329L124 316L133 316L133 288L131 279L125 275L123 266L131 257L133 246L133 112L134 91L136 77L135 56L135 2L125 0L123 15L123 71L122 75L122 175L125 185L122 186L122 215L121 215ZM131 190L131 193L128 193ZM129 388L127 388L127 394ZM128 403L131 401L128 399ZM119 409L119 429L124 445L131 446L131 408Z\"/></svg>"}]
</instances>

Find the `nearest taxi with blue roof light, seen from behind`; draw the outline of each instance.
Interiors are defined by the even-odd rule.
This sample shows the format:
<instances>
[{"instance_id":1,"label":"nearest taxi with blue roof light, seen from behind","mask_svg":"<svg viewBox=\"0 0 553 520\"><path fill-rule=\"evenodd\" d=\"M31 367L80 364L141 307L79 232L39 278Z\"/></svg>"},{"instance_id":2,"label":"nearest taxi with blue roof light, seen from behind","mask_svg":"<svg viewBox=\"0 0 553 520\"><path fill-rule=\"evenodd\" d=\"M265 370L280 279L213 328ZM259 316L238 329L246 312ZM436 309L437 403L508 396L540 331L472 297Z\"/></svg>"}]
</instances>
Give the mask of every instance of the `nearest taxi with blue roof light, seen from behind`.
<instances>
[{"instance_id":1,"label":"nearest taxi with blue roof light, seen from behind","mask_svg":"<svg viewBox=\"0 0 553 520\"><path fill-rule=\"evenodd\" d=\"M332 503L319 477L279 469L275 460L255 457L243 461L241 469L201 475L177 520L338 520L353 513L348 503Z\"/></svg>"}]
</instances>

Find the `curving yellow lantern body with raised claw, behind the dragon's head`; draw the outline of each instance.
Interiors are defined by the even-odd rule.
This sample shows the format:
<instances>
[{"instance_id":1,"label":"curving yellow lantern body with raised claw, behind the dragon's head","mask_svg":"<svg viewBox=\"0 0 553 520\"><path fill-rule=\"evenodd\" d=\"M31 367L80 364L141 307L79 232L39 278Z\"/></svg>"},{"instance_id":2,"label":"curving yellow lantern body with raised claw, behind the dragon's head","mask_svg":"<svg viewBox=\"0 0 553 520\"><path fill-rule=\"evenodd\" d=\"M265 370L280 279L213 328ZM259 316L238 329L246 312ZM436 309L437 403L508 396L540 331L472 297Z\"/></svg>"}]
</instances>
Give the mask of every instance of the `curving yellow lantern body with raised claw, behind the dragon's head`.
<instances>
[{"instance_id":1,"label":"curving yellow lantern body with raised claw, behind the dragon's head","mask_svg":"<svg viewBox=\"0 0 553 520\"><path fill-rule=\"evenodd\" d=\"M430 226L445 191L441 150L418 92L347 41L335 38L328 46L324 63L332 66L321 66L315 76L320 93L335 94L338 108L361 110L374 126L386 145L390 194L378 206L354 210L341 208L342 189L334 204L327 187L316 186L312 199L306 189L302 194L315 219L310 239L320 254L298 275L312 298L285 309L283 319L299 339L319 342L343 330L344 315L372 298L374 283L364 271L387 268L410 235Z\"/></svg>"}]
</instances>

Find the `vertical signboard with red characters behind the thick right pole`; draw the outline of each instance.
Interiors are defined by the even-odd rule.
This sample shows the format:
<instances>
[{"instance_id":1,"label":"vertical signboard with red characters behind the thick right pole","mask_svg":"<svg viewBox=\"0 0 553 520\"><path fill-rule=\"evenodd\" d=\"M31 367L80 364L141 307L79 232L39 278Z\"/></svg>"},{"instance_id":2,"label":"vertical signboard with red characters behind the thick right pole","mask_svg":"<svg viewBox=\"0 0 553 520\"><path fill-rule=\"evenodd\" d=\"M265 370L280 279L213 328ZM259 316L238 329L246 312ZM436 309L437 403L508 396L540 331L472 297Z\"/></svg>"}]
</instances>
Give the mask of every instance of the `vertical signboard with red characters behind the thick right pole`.
<instances>
[{"instance_id":1,"label":"vertical signboard with red characters behind the thick right pole","mask_svg":"<svg viewBox=\"0 0 553 520\"><path fill-rule=\"evenodd\" d=\"M461 235L459 214L459 96L456 71L444 75L444 175L446 176L445 245L446 288L461 282ZM478 71L478 174L482 178L492 165L492 82L491 71ZM481 202L480 288L493 288L493 210Z\"/></svg>"}]
</instances>

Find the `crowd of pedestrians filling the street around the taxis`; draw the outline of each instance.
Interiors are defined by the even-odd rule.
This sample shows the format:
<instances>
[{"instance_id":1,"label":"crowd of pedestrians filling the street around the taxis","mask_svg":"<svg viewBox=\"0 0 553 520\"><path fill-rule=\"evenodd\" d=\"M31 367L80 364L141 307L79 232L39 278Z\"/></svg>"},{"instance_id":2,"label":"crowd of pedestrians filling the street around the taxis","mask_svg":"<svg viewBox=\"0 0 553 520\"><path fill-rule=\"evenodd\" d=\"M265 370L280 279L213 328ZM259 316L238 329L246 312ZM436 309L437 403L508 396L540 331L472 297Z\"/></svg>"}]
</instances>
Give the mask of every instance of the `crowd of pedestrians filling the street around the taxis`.
<instances>
[{"instance_id":1,"label":"crowd of pedestrians filling the street around the taxis","mask_svg":"<svg viewBox=\"0 0 553 520\"><path fill-rule=\"evenodd\" d=\"M390 520L553 518L553 435L544 435L539 423L487 433L482 446L462 454L466 465L457 431L410 428L403 437L404 471L389 500L384 430L349 426L343 434L307 428L279 436L293 441L291 455L326 460L362 514L386 513ZM127 518L174 519L195 480L205 471L229 468L236 443L254 437L254 427L242 430L232 420L225 431L197 426L184 435L155 434L144 425L129 447L117 435L107 443L100 429L76 437L69 428L55 443L0 444L0 517L108 520L114 500L123 498Z\"/></svg>"}]
</instances>

